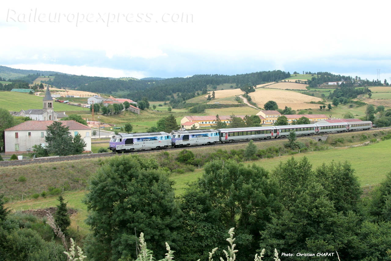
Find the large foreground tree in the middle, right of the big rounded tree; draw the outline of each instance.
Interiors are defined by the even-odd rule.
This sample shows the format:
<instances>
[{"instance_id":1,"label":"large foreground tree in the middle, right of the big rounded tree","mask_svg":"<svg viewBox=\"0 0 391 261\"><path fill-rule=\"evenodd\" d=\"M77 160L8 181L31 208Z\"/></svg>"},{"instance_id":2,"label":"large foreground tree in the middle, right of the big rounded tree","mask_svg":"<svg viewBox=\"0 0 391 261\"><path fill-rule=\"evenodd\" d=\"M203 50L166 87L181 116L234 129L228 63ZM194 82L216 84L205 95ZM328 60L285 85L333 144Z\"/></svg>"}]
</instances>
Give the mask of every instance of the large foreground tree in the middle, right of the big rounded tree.
<instances>
[{"instance_id":1,"label":"large foreground tree in the middle, right of the big rounded tree","mask_svg":"<svg viewBox=\"0 0 391 261\"><path fill-rule=\"evenodd\" d=\"M254 259L252 253L259 247L259 231L271 220L271 213L280 212L276 183L269 179L266 170L232 160L213 160L204 170L199 181L185 192L182 201L182 206L187 206L183 217L186 250L207 254L206 250L210 248L205 249L200 244L201 238L206 237L209 246L216 240L209 236L223 233L221 229L236 227L235 243L243 249L242 259L237 257L237 260L250 260L251 256ZM192 238L193 234L195 238ZM213 247L221 247L219 241L215 243Z\"/></svg>"}]
</instances>

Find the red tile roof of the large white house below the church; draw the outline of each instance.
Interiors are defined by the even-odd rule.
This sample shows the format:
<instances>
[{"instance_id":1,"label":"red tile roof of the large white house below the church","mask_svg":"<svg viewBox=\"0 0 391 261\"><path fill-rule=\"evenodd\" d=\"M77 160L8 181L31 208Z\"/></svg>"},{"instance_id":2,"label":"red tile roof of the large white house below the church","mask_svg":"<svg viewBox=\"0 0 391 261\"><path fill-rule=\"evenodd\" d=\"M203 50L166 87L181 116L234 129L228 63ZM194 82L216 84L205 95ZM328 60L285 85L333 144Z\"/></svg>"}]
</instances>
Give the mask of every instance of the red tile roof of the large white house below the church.
<instances>
[{"instance_id":1,"label":"red tile roof of the large white house below the church","mask_svg":"<svg viewBox=\"0 0 391 261\"><path fill-rule=\"evenodd\" d=\"M76 121L59 121L70 130L91 130L90 127ZM5 129L4 131L46 130L54 121L25 121L21 124Z\"/></svg>"}]
</instances>

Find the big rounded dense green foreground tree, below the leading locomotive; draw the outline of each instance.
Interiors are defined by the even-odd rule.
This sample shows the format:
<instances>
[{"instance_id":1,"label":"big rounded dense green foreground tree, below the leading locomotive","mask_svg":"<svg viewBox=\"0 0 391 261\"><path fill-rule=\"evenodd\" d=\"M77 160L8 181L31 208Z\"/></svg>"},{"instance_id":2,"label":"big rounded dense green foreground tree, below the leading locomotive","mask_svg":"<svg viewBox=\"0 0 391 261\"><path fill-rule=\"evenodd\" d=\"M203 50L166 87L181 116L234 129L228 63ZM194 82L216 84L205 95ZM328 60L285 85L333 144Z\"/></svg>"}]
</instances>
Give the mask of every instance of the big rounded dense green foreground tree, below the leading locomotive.
<instances>
[{"instance_id":1,"label":"big rounded dense green foreground tree, below the leading locomotive","mask_svg":"<svg viewBox=\"0 0 391 261\"><path fill-rule=\"evenodd\" d=\"M158 259L163 258L164 242L176 247L181 212L174 199L173 181L158 170L155 160L137 155L110 158L91 177L90 184L86 222L93 232L93 244L99 248L87 256L134 260L140 232L145 233Z\"/></svg>"}]
</instances>

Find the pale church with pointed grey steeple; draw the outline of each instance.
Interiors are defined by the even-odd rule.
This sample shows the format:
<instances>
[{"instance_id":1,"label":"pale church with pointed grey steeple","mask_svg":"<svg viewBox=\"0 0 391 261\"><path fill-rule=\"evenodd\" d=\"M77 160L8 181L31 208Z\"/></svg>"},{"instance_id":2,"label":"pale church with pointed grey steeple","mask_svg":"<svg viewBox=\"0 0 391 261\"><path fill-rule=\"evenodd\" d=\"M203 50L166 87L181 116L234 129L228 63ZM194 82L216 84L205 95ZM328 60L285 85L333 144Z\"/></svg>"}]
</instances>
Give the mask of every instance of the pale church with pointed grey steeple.
<instances>
[{"instance_id":1,"label":"pale church with pointed grey steeple","mask_svg":"<svg viewBox=\"0 0 391 261\"><path fill-rule=\"evenodd\" d=\"M61 118L68 117L64 112L57 113L53 110L53 101L48 86L45 97L43 97L42 109L21 110L16 115L30 117L33 121L59 121Z\"/></svg>"}]
</instances>

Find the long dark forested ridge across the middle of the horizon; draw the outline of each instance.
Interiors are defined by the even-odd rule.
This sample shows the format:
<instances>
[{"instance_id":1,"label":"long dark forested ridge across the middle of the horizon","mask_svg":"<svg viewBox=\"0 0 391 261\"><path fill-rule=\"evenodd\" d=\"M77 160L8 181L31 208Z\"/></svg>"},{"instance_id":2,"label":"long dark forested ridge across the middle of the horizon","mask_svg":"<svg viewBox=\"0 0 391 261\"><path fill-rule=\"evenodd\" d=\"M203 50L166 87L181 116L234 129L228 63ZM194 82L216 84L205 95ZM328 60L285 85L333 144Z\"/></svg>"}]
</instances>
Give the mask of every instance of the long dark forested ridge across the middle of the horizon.
<instances>
[{"instance_id":1,"label":"long dark forested ridge across the middle of the horizon","mask_svg":"<svg viewBox=\"0 0 391 261\"><path fill-rule=\"evenodd\" d=\"M77 89L103 93L126 91L129 92L126 96L131 97L131 99L138 100L142 97L147 97L151 101L162 101L176 92L194 93L202 91L209 84L231 83L232 85L241 86L250 83L251 85L257 85L283 80L290 76L289 72L275 70L241 75L194 75L187 78L169 78L153 82L148 80L102 80L81 85Z\"/></svg>"}]
</instances>

